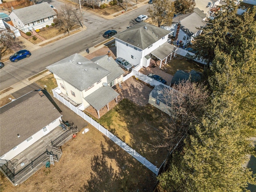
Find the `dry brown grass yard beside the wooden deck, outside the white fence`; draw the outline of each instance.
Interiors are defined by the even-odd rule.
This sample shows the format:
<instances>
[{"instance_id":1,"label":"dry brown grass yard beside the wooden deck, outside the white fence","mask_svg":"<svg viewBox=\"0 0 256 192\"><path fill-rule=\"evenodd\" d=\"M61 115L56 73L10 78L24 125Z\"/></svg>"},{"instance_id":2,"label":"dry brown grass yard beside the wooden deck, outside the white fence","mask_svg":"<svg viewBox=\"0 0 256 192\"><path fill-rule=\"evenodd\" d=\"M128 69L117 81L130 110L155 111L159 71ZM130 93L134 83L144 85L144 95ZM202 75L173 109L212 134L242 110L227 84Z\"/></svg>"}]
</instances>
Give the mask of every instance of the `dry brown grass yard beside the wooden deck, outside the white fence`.
<instances>
[{"instance_id":1,"label":"dry brown grass yard beside the wooden deck, outside the white fence","mask_svg":"<svg viewBox=\"0 0 256 192\"><path fill-rule=\"evenodd\" d=\"M89 132L62 146L60 162L41 168L13 186L1 178L3 192L120 192L152 191L156 176L91 125Z\"/></svg>"}]
</instances>

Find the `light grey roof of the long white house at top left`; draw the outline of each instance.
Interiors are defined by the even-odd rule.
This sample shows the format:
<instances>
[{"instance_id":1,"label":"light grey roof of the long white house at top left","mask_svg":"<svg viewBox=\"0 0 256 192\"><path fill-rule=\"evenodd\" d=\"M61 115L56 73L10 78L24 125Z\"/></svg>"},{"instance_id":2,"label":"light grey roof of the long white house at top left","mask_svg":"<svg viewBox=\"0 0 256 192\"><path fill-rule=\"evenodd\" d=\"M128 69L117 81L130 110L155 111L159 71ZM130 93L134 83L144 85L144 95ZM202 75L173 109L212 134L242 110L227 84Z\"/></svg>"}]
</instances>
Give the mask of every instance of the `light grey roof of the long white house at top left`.
<instances>
[{"instance_id":1,"label":"light grey roof of the long white house at top left","mask_svg":"<svg viewBox=\"0 0 256 192\"><path fill-rule=\"evenodd\" d=\"M24 24L57 15L47 2L12 10L12 12L14 12Z\"/></svg>"}]
</instances>

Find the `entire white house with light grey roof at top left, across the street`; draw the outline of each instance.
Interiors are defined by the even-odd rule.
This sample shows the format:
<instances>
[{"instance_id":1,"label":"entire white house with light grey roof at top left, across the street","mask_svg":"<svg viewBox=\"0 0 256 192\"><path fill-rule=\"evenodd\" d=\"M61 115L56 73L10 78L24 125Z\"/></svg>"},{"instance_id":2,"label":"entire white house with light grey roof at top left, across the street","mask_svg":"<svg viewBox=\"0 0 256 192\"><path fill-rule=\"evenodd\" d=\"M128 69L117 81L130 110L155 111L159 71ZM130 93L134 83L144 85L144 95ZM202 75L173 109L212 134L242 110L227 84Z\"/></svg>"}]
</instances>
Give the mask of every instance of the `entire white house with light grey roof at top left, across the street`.
<instances>
[{"instance_id":1,"label":"entire white house with light grey roof at top left, across the street","mask_svg":"<svg viewBox=\"0 0 256 192\"><path fill-rule=\"evenodd\" d=\"M10 18L13 25L24 33L41 29L46 25L51 25L57 13L47 2L35 4L25 8L12 10Z\"/></svg>"}]
</instances>

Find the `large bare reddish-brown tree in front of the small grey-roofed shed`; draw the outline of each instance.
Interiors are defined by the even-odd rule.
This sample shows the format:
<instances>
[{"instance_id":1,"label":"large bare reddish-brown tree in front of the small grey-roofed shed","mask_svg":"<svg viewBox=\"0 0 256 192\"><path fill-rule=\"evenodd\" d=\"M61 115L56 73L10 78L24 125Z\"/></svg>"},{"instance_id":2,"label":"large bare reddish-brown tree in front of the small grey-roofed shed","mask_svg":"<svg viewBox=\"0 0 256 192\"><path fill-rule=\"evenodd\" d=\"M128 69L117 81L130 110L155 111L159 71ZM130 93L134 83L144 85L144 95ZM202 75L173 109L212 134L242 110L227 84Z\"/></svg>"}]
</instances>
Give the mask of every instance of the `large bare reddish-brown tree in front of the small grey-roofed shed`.
<instances>
[{"instance_id":1,"label":"large bare reddish-brown tree in front of the small grey-roofed shed","mask_svg":"<svg viewBox=\"0 0 256 192\"><path fill-rule=\"evenodd\" d=\"M166 120L162 140L154 147L167 148L168 159L174 147L193 131L193 125L200 122L204 107L208 104L208 92L203 84L187 80L172 88L165 88L161 94L168 108L169 118Z\"/></svg>"}]
</instances>

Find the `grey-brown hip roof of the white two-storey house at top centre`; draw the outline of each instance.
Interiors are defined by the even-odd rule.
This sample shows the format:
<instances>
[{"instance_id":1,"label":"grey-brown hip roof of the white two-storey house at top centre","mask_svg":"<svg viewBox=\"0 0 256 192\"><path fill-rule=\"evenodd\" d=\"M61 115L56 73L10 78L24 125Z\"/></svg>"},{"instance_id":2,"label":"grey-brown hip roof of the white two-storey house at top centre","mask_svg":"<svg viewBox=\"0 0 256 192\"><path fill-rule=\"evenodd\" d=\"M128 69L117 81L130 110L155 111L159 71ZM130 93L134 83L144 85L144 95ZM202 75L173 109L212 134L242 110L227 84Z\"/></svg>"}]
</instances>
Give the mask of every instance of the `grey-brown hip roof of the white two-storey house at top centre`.
<instances>
[{"instance_id":1,"label":"grey-brown hip roof of the white two-storey house at top centre","mask_svg":"<svg viewBox=\"0 0 256 192\"><path fill-rule=\"evenodd\" d=\"M114 35L114 38L144 50L169 33L170 31L168 30L162 29L152 24L140 22Z\"/></svg>"}]
</instances>

